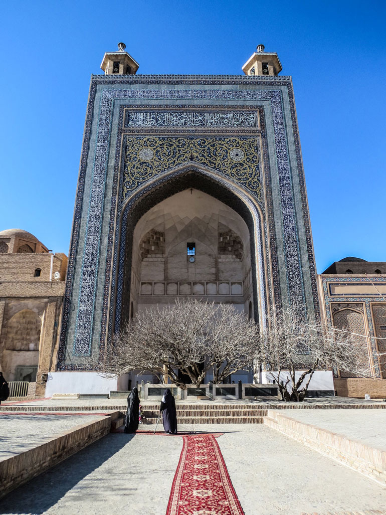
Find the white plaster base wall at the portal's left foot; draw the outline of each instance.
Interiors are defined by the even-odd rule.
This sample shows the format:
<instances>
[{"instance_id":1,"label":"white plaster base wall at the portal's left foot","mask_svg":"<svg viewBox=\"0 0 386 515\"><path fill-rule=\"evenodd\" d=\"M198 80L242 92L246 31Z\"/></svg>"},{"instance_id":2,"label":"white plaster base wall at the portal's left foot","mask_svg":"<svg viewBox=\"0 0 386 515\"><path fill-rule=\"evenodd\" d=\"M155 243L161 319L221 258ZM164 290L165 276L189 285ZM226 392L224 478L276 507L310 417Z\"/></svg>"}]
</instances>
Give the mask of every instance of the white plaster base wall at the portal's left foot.
<instances>
[{"instance_id":1,"label":"white plaster base wall at the portal's left foot","mask_svg":"<svg viewBox=\"0 0 386 515\"><path fill-rule=\"evenodd\" d=\"M110 393L117 389L117 378L108 379L98 372L50 372L45 397L54 393Z\"/></svg>"}]
</instances>

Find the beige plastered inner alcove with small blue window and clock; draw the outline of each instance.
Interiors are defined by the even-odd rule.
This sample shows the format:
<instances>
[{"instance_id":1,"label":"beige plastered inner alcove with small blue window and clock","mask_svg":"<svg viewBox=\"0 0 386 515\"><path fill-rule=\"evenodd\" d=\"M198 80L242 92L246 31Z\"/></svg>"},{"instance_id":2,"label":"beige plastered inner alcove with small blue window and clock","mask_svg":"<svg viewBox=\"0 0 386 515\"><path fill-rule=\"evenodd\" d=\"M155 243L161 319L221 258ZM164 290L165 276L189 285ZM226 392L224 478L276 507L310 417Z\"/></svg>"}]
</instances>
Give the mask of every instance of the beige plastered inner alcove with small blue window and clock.
<instances>
[{"instance_id":1,"label":"beige plastered inner alcove with small blue window and clock","mask_svg":"<svg viewBox=\"0 0 386 515\"><path fill-rule=\"evenodd\" d=\"M132 252L130 295L139 310L199 296L232 302L241 311L253 295L247 225L195 188L162 200L138 220Z\"/></svg>"}]
</instances>

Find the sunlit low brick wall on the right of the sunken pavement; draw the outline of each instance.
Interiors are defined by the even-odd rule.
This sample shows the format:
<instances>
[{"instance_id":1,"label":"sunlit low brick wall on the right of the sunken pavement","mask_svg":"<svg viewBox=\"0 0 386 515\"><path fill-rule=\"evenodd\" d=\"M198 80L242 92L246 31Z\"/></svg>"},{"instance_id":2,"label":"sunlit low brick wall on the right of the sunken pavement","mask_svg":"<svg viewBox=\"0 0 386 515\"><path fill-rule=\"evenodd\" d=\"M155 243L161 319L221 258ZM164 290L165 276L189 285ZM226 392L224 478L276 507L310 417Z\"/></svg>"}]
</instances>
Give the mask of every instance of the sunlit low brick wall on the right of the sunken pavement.
<instances>
[{"instance_id":1,"label":"sunlit low brick wall on the right of the sunken pavement","mask_svg":"<svg viewBox=\"0 0 386 515\"><path fill-rule=\"evenodd\" d=\"M347 467L386 485L386 452L268 410L264 423Z\"/></svg>"}]
</instances>

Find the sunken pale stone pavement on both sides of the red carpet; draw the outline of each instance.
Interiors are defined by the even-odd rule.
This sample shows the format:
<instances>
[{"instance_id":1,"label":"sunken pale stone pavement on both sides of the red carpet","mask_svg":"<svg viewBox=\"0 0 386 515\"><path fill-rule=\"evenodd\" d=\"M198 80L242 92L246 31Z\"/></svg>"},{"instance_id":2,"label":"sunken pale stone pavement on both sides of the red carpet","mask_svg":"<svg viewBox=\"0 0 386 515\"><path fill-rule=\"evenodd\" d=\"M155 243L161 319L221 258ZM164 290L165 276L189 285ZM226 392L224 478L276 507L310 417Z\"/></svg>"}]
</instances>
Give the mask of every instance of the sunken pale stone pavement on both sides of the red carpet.
<instances>
[{"instance_id":1,"label":"sunken pale stone pavement on both sides of the red carpet","mask_svg":"<svg viewBox=\"0 0 386 515\"><path fill-rule=\"evenodd\" d=\"M223 433L218 443L245 515L360 512L386 506L386 489L265 425L179 429ZM0 513L165 515L181 449L179 436L109 434L4 497Z\"/></svg>"}]
</instances>

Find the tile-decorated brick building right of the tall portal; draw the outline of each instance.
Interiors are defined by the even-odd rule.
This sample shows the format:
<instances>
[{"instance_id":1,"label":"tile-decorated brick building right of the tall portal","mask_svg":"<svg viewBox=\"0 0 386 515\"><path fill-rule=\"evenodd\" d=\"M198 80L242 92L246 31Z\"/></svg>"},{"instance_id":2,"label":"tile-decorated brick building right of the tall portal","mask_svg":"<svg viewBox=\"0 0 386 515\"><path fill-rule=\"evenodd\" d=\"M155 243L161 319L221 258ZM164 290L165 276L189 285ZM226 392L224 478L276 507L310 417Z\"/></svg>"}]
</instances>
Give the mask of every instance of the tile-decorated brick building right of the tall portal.
<instances>
[{"instance_id":1,"label":"tile-decorated brick building right of the tall portal","mask_svg":"<svg viewBox=\"0 0 386 515\"><path fill-rule=\"evenodd\" d=\"M336 371L337 394L386 398L386 262L348 257L319 276L322 313L328 324L358 335L369 351L372 379Z\"/></svg>"}]
</instances>

